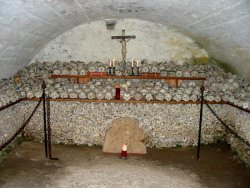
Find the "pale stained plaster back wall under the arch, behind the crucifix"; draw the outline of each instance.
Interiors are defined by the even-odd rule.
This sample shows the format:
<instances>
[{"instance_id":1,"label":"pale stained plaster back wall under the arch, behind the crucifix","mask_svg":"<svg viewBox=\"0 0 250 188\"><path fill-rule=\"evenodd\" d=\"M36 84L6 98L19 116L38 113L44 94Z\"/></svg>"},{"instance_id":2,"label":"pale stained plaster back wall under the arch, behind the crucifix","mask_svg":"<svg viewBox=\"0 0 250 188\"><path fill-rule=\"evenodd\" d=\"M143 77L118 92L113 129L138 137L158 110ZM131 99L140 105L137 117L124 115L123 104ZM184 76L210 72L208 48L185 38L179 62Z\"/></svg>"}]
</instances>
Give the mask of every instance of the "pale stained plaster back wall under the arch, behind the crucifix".
<instances>
[{"instance_id":1,"label":"pale stained plaster back wall under the arch, behind the crucifix","mask_svg":"<svg viewBox=\"0 0 250 188\"><path fill-rule=\"evenodd\" d=\"M127 61L131 58L152 61L169 61L177 63L190 59L208 59L205 49L185 34L161 24L136 19L117 20L115 28L108 30L104 20L79 25L43 48L30 63L36 61L70 61L109 62L111 59L121 60L121 44L112 40L111 36L136 35L127 43Z\"/></svg>"}]
</instances>

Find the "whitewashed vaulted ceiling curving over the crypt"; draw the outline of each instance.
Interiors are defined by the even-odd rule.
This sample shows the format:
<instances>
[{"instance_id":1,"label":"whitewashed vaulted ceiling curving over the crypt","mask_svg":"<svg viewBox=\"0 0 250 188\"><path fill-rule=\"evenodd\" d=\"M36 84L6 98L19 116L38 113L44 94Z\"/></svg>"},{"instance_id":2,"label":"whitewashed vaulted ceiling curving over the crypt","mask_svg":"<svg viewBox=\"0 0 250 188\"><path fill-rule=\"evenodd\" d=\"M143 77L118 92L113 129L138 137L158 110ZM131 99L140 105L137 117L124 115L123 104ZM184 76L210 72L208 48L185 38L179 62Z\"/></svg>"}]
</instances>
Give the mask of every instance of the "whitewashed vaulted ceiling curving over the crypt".
<instances>
[{"instance_id":1,"label":"whitewashed vaulted ceiling curving over the crypt","mask_svg":"<svg viewBox=\"0 0 250 188\"><path fill-rule=\"evenodd\" d=\"M0 78L77 25L133 18L180 30L249 81L249 13L249 0L0 0Z\"/></svg>"}]
</instances>

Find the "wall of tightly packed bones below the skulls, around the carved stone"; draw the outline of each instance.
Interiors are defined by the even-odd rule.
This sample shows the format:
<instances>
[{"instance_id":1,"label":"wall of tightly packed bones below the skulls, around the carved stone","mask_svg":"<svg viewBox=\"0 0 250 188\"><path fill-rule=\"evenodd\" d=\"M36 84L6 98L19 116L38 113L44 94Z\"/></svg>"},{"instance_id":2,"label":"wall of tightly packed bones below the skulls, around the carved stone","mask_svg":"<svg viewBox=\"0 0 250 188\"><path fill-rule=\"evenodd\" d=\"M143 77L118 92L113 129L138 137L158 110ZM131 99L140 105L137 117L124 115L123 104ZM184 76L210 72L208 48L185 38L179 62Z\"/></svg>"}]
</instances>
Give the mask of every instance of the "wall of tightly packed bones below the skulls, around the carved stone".
<instances>
[{"instance_id":1,"label":"wall of tightly packed bones below the skulls, around the carved stone","mask_svg":"<svg viewBox=\"0 0 250 188\"><path fill-rule=\"evenodd\" d=\"M13 135L37 102L21 102L0 112L0 144ZM250 114L228 105L210 105L228 125L250 142ZM78 145L103 145L111 122L120 117L139 121L147 147L197 145L200 106L196 104L132 104L51 102L52 142ZM250 150L225 131L209 109L204 106L202 143L226 138L241 159L250 161ZM25 129L27 136L42 142L42 105ZM226 137L225 137L226 136Z\"/></svg>"}]
</instances>

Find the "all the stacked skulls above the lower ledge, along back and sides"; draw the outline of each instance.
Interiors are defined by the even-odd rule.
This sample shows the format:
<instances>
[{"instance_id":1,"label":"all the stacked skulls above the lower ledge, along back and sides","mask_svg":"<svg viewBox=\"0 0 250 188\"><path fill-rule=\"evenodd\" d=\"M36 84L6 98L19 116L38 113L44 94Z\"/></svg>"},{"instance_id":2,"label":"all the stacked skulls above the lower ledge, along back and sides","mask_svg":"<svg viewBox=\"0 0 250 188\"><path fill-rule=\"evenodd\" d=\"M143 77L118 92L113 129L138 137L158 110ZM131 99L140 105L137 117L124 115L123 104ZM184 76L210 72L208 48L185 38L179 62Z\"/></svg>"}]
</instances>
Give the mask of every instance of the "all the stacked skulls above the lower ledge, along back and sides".
<instances>
[{"instance_id":1,"label":"all the stacked skulls above the lower ledge, along back and sides","mask_svg":"<svg viewBox=\"0 0 250 188\"><path fill-rule=\"evenodd\" d=\"M131 63L127 63L129 67ZM118 80L94 79L86 84L76 84L74 79L50 78L51 74L81 74L88 71L107 71L108 63L80 61L55 63L44 62L31 64L18 71L15 76L20 82L15 82L15 76L0 81L0 107L19 98L40 98L41 83L46 82L46 93L51 98L80 98L111 100L115 96L115 85L121 86L123 100L159 100L159 101L196 101L200 97L201 81L182 81L180 87L170 88L164 80ZM122 70L122 63L115 62L116 70ZM229 101L245 109L250 108L250 85L242 78L226 73L214 64L197 65L184 63L182 66L174 62L139 64L140 72L157 72L162 76L206 76L205 99L207 101Z\"/></svg>"}]
</instances>

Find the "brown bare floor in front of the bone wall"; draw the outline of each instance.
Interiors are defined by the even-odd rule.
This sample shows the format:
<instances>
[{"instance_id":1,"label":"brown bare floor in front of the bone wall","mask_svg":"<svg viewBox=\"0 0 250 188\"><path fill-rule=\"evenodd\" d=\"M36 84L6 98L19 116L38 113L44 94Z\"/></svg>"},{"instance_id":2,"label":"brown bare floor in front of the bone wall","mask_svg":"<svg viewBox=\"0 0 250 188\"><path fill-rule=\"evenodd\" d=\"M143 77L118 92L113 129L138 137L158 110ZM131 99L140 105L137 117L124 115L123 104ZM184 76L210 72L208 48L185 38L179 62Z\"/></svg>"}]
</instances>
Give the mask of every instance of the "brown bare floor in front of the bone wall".
<instances>
[{"instance_id":1,"label":"brown bare floor in front of the bone wall","mask_svg":"<svg viewBox=\"0 0 250 188\"><path fill-rule=\"evenodd\" d=\"M25 142L0 164L0 187L141 188L250 187L250 170L224 144L148 149L145 156L104 155L100 147L53 146L58 161L44 158L42 144Z\"/></svg>"}]
</instances>

